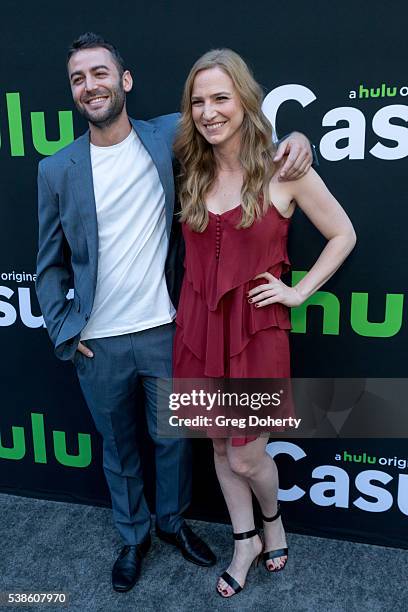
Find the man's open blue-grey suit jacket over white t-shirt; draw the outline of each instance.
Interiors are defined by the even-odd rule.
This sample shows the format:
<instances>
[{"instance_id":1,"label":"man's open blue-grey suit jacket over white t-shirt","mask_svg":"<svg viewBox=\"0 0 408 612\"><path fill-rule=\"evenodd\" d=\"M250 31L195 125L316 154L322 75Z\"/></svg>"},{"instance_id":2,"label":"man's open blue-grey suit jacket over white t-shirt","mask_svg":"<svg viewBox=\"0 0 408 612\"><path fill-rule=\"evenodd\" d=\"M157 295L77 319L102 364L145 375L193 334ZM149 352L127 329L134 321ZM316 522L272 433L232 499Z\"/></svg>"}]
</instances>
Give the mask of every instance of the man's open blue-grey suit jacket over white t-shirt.
<instances>
[{"instance_id":1,"label":"man's open blue-grey suit jacket over white t-shirt","mask_svg":"<svg viewBox=\"0 0 408 612\"><path fill-rule=\"evenodd\" d=\"M169 253L166 280L175 306L183 244L174 220L174 140L178 114L130 119L159 173L165 194ZM146 202L146 205L149 203ZM98 227L89 132L43 159L38 168L39 252L36 290L57 357L71 359L92 311L98 272ZM74 299L67 300L74 287Z\"/></svg>"}]
</instances>

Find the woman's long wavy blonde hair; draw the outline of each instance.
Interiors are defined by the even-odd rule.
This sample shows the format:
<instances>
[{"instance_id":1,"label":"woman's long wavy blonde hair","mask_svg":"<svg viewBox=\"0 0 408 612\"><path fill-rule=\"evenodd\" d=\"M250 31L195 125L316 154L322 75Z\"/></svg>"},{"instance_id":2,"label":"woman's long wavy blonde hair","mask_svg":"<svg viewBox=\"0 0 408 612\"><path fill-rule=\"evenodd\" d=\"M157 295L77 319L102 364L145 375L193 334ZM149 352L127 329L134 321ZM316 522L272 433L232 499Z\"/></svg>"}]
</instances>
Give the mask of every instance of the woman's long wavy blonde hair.
<instances>
[{"instance_id":1,"label":"woman's long wavy blonde hair","mask_svg":"<svg viewBox=\"0 0 408 612\"><path fill-rule=\"evenodd\" d=\"M205 197L216 178L213 148L196 129L191 95L198 72L218 66L232 80L244 110L240 161L244 171L239 228L250 227L270 205L269 182L274 172L272 126L262 112L263 94L244 60L231 49L214 49L201 56L187 77L181 102L181 120L174 143L180 162L180 219L197 232L208 224Z\"/></svg>"}]
</instances>

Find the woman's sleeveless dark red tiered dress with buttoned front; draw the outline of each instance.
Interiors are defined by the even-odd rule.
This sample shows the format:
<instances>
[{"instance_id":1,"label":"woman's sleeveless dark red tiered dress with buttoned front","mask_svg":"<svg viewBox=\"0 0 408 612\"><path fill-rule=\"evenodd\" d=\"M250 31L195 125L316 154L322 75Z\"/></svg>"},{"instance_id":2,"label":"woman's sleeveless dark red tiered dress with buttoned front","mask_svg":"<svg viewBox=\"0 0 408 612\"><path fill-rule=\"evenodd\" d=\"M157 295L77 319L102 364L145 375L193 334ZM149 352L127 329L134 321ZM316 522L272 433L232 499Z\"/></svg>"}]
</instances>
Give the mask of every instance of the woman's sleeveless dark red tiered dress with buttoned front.
<instances>
[{"instance_id":1,"label":"woman's sleeveless dark red tiered dress with buttoned front","mask_svg":"<svg viewBox=\"0 0 408 612\"><path fill-rule=\"evenodd\" d=\"M176 318L175 378L288 378L289 310L283 304L255 308L246 294L289 269L290 219L271 205L245 229L237 229L241 206L209 212L204 232L184 223L185 275ZM283 415L283 416L290 416ZM240 446L257 436L233 438Z\"/></svg>"}]
</instances>

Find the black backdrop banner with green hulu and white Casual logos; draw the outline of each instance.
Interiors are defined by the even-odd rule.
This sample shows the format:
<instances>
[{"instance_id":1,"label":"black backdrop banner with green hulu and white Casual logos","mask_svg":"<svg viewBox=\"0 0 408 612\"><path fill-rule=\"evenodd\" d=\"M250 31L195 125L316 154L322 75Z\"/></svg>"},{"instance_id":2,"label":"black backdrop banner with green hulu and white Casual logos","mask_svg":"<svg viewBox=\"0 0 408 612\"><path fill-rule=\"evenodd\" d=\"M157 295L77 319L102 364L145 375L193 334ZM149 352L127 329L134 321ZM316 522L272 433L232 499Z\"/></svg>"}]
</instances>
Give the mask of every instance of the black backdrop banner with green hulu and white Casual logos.
<instances>
[{"instance_id":1,"label":"black backdrop banner with green hulu and white Casual logos","mask_svg":"<svg viewBox=\"0 0 408 612\"><path fill-rule=\"evenodd\" d=\"M280 135L306 133L319 173L353 220L351 257L293 311L293 374L303 378L407 376L408 80L402 1L386 8L237 0L194 6L101 0L93 6L2 4L0 81L0 490L109 504L101 441L71 363L54 358L34 290L37 164L79 136L68 85L69 43L93 30L116 44L134 77L130 115L178 110L184 79L203 52L230 47L265 90ZM57 12L58 11L58 12ZM290 236L292 282L324 240L301 212ZM398 398L406 410L406 398ZM369 405L368 405L369 408ZM368 410L369 419L369 410ZM289 529L408 547L408 449L393 427L376 438L271 440ZM154 507L152 448L144 434ZM387 437L388 429L394 437ZM403 433L401 433L403 435ZM194 440L190 515L227 520L211 444Z\"/></svg>"}]
</instances>

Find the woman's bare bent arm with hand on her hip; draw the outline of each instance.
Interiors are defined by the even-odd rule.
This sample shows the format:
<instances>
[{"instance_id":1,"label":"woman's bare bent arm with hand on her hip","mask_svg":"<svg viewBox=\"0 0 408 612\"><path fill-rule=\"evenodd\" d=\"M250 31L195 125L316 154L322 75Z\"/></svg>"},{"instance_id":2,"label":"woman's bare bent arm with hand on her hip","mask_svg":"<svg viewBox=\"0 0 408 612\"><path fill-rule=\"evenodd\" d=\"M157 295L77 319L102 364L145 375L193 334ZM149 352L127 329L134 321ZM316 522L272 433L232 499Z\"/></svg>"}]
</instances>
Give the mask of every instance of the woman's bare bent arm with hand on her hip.
<instances>
[{"instance_id":1,"label":"woman's bare bent arm with hand on her hip","mask_svg":"<svg viewBox=\"0 0 408 612\"><path fill-rule=\"evenodd\" d=\"M350 219L313 169L298 181L286 183L285 190L328 242L313 267L295 287L288 287L269 272L259 274L256 278L265 278L268 283L249 292L250 302L256 307L275 302L290 307L300 306L333 276L356 243Z\"/></svg>"}]
</instances>

